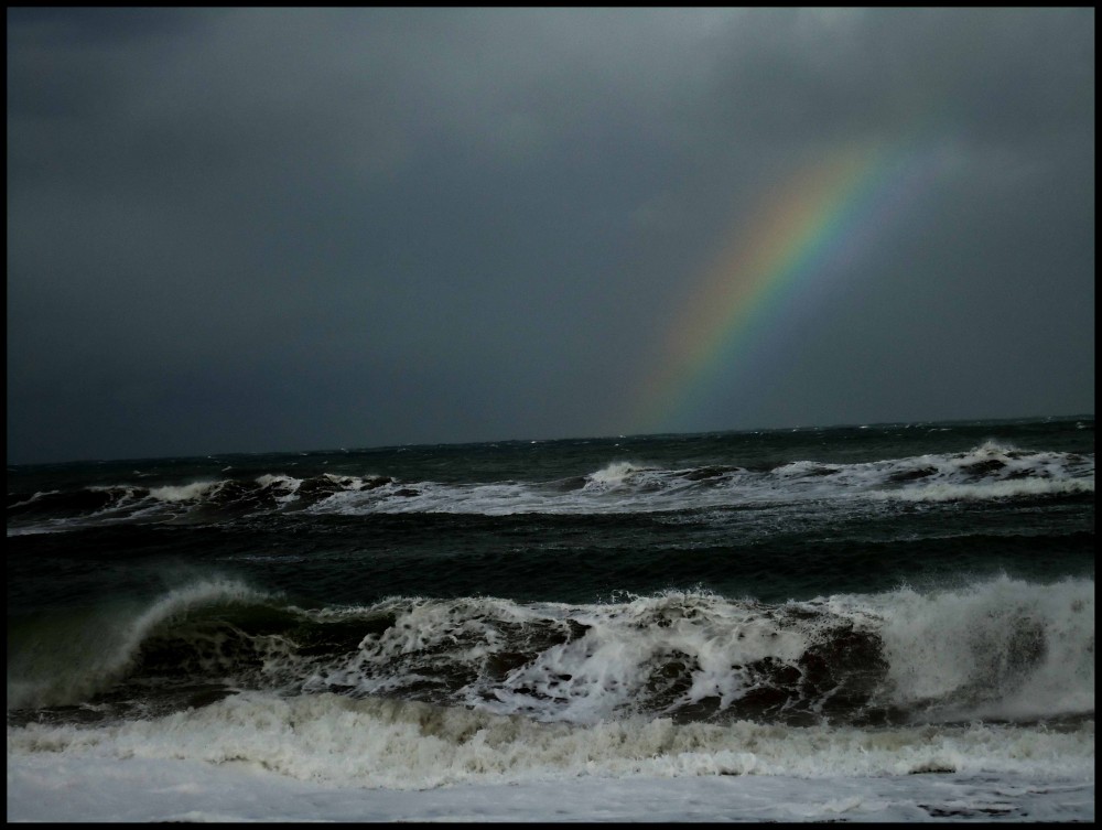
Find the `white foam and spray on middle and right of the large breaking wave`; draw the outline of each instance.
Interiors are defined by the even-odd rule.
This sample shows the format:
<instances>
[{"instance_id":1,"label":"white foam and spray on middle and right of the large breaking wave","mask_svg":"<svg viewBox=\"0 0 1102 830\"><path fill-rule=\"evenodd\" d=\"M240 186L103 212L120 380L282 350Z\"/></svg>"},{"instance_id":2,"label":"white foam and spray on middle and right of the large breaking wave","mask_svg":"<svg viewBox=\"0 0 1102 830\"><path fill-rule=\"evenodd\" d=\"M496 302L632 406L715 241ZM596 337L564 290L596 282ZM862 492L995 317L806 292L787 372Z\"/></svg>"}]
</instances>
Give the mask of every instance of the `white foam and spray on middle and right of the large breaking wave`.
<instances>
[{"instance_id":1,"label":"white foam and spray on middle and right of the large breaking wave","mask_svg":"<svg viewBox=\"0 0 1102 830\"><path fill-rule=\"evenodd\" d=\"M393 623L349 656L311 664L301 688L381 694L463 676L453 702L572 723L701 703L725 711L773 688L786 710L813 715L857 669L833 666L833 679L798 693L776 677L806 677L809 654L865 648L867 658L850 659L885 660L883 679L867 681L876 683L866 692L874 708L930 722L1089 714L1093 611L1091 580L1038 585L1006 576L776 606L701 592L595 605L393 599L345 612ZM523 658L504 675L491 668L496 655L518 650ZM287 673L302 678L299 658L285 659Z\"/></svg>"}]
</instances>

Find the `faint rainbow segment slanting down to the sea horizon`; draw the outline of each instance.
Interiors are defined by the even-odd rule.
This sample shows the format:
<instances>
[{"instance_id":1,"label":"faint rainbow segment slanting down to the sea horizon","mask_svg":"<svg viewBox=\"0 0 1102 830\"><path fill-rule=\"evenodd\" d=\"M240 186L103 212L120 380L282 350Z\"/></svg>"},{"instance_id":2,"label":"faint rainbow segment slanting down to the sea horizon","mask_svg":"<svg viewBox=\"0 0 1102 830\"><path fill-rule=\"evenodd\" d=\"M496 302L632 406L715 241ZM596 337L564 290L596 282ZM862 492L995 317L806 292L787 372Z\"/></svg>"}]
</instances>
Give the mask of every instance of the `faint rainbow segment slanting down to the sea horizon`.
<instances>
[{"instance_id":1,"label":"faint rainbow segment slanting down to the sea horizon","mask_svg":"<svg viewBox=\"0 0 1102 830\"><path fill-rule=\"evenodd\" d=\"M639 385L634 431L694 428L702 405L760 362L786 310L807 308L880 236L940 166L939 155L851 144L771 187L674 313Z\"/></svg>"}]
</instances>

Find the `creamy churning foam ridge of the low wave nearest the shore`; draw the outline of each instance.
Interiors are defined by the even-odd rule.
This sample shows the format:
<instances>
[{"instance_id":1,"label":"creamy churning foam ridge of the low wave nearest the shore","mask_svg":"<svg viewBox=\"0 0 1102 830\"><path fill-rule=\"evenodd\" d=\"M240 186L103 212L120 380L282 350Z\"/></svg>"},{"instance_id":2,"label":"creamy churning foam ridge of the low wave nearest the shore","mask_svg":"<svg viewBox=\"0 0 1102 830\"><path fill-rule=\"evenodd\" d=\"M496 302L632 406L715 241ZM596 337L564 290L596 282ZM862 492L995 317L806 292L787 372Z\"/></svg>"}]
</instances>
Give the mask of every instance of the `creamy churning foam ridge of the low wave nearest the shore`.
<instances>
[{"instance_id":1,"label":"creamy churning foam ridge of the low wave nearest the shore","mask_svg":"<svg viewBox=\"0 0 1102 830\"><path fill-rule=\"evenodd\" d=\"M9 727L9 755L229 762L341 787L422 789L586 775L1093 776L1092 722L1065 730L974 723L889 730L666 718L580 726L335 694L241 693L198 710L95 727Z\"/></svg>"}]
</instances>

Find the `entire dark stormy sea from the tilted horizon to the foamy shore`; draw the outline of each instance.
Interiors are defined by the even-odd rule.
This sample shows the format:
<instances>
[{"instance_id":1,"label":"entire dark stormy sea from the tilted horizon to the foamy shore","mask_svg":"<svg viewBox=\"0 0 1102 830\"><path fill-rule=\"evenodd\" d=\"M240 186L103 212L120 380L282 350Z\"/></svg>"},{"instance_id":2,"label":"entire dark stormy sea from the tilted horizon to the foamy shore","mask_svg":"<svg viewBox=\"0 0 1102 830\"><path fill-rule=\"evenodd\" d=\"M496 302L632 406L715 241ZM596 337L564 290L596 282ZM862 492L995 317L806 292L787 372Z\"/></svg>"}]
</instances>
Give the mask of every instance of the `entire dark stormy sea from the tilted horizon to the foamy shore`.
<instances>
[{"instance_id":1,"label":"entire dark stormy sea from the tilted horizon to the foamy shore","mask_svg":"<svg viewBox=\"0 0 1102 830\"><path fill-rule=\"evenodd\" d=\"M1094 820L1094 418L8 466L9 821Z\"/></svg>"}]
</instances>

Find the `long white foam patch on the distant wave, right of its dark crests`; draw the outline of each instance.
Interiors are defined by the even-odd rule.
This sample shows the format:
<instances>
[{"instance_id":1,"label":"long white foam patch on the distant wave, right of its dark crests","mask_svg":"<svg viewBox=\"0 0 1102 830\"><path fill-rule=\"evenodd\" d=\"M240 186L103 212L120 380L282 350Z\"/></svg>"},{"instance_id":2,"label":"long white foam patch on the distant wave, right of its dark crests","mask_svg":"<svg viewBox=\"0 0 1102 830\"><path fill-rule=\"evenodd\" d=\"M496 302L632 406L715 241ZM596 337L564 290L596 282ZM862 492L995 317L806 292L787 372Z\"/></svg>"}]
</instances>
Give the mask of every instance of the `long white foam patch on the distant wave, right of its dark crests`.
<instances>
[{"instance_id":1,"label":"long white foam patch on the distant wave, right of its dark crests","mask_svg":"<svg viewBox=\"0 0 1102 830\"><path fill-rule=\"evenodd\" d=\"M391 482L349 487L318 502L317 513L633 513L766 505L791 500L944 502L1094 492L1093 455L1016 450L993 441L963 453L867 463L793 461L768 471L663 468L616 461L579 487L554 483Z\"/></svg>"}]
</instances>

